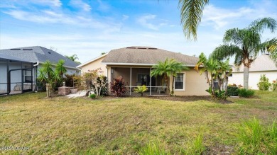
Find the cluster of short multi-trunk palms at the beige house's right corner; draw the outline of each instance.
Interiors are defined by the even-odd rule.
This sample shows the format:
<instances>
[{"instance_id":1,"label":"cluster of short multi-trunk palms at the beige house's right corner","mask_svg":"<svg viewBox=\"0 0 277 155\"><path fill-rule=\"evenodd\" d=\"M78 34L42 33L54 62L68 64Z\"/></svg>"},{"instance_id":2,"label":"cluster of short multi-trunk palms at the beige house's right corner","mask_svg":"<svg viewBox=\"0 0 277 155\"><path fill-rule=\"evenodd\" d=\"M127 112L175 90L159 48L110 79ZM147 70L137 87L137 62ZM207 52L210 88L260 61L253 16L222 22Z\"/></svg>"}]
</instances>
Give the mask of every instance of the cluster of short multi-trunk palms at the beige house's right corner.
<instances>
[{"instance_id":1,"label":"cluster of short multi-trunk palms at the beige house's right corner","mask_svg":"<svg viewBox=\"0 0 277 155\"><path fill-rule=\"evenodd\" d=\"M199 71L200 74L204 72L207 84L210 86L207 92L215 98L227 98L228 75L232 73L229 59L221 62L211 57L207 59L205 54L201 53L199 61L195 64L195 70ZM215 81L217 81L218 88L214 86Z\"/></svg>"}]
</instances>

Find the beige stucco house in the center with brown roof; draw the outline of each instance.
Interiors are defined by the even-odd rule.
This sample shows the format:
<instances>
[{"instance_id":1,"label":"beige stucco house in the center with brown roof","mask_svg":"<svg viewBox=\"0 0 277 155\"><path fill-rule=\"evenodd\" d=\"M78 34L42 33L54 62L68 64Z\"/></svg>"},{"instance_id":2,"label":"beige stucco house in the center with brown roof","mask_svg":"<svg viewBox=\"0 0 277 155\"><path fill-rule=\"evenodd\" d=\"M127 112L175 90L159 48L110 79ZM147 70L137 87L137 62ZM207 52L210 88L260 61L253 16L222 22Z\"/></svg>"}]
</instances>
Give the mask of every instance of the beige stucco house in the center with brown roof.
<instances>
[{"instance_id":1,"label":"beige stucco house in the center with brown roof","mask_svg":"<svg viewBox=\"0 0 277 155\"><path fill-rule=\"evenodd\" d=\"M123 76L127 85L127 95L136 95L136 86L146 85L148 95L168 94L166 85L161 76L151 77L150 73L154 64L165 59L175 59L183 62L190 70L182 71L175 77L175 95L177 96L206 96L208 88L205 76L193 69L198 61L197 57L176 52L161 50L154 47L124 47L112 50L107 54L81 64L82 73L101 67L103 74L112 81L118 76ZM173 77L170 77L170 88Z\"/></svg>"}]
</instances>

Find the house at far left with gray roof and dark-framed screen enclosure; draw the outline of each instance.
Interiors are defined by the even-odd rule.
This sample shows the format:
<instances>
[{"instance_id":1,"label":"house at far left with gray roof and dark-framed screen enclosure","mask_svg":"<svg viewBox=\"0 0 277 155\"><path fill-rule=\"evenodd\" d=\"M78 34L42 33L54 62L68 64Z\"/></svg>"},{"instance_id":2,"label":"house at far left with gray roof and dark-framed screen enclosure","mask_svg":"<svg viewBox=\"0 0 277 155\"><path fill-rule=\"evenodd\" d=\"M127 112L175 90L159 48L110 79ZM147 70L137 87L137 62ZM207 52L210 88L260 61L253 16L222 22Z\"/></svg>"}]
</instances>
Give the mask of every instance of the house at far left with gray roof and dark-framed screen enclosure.
<instances>
[{"instance_id":1,"label":"house at far left with gray roof and dark-framed screen enclosure","mask_svg":"<svg viewBox=\"0 0 277 155\"><path fill-rule=\"evenodd\" d=\"M47 60L55 64L65 60L67 74L78 71L77 63L45 47L19 47L0 50L0 94L21 93L36 89L38 69Z\"/></svg>"}]
</instances>

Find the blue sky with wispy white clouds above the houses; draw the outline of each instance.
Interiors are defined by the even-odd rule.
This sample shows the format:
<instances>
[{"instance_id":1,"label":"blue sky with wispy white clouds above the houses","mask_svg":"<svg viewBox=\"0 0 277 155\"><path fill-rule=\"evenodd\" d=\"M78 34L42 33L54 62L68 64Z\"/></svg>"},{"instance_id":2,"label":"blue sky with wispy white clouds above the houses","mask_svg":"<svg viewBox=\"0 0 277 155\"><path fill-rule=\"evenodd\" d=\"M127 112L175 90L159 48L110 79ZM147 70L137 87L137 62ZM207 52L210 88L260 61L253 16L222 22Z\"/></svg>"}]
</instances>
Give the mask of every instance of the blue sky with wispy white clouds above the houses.
<instances>
[{"instance_id":1,"label":"blue sky with wispy white clouds above the houses","mask_svg":"<svg viewBox=\"0 0 277 155\"><path fill-rule=\"evenodd\" d=\"M198 56L222 44L225 30L264 17L277 20L277 1L210 0L193 42L183 35L177 0L1 0L0 49L52 47L80 62L133 45ZM276 34L266 30L263 40Z\"/></svg>"}]
</instances>

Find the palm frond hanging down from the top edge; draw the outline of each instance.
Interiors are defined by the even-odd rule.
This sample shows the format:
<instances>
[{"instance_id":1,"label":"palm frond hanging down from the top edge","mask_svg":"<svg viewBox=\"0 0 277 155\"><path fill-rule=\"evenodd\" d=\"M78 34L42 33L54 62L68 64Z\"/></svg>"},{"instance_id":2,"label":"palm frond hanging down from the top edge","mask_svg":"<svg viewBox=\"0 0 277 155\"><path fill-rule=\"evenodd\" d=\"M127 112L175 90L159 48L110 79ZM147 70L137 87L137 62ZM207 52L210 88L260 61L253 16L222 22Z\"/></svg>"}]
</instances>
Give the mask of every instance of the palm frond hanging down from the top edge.
<instances>
[{"instance_id":1,"label":"palm frond hanging down from the top edge","mask_svg":"<svg viewBox=\"0 0 277 155\"><path fill-rule=\"evenodd\" d=\"M209 0L179 0L180 18L185 37L197 40L197 27L202 18L202 12Z\"/></svg>"}]
</instances>

